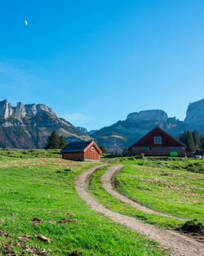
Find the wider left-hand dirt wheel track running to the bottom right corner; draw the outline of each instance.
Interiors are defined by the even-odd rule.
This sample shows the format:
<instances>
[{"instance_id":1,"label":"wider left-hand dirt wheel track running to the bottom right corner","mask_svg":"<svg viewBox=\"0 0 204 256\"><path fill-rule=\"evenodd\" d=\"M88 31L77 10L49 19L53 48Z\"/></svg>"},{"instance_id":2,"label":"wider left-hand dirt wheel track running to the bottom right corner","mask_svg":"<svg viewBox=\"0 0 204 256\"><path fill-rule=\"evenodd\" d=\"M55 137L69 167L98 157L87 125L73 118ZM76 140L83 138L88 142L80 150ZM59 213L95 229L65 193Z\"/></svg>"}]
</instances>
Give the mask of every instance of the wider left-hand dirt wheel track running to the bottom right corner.
<instances>
[{"instance_id":1,"label":"wider left-hand dirt wheel track running to the bottom right corner","mask_svg":"<svg viewBox=\"0 0 204 256\"><path fill-rule=\"evenodd\" d=\"M86 204L88 204L91 209L104 213L106 217L112 219L114 222L118 222L134 231L138 231L144 236L148 236L150 240L157 241L163 248L171 249L172 256L203 256L204 245L200 242L197 242L188 236L180 235L177 232L164 231L153 225L144 224L135 218L120 213L114 213L94 200L91 195L86 192L86 184L89 182L91 175L103 166L104 164L89 168L78 175L75 180L75 187L78 191L78 195L82 200L86 201Z\"/></svg>"}]
</instances>

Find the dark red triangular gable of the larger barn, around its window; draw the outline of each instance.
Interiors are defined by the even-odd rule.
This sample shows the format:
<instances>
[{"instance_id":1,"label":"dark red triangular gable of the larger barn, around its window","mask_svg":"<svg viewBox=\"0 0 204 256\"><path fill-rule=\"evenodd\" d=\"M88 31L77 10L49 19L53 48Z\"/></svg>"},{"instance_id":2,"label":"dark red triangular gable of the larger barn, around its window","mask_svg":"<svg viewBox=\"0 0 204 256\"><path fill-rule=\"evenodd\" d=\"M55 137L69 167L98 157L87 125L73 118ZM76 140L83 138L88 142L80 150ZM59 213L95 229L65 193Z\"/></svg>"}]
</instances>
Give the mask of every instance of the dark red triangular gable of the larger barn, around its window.
<instances>
[{"instance_id":1,"label":"dark red triangular gable of the larger barn, around its window","mask_svg":"<svg viewBox=\"0 0 204 256\"><path fill-rule=\"evenodd\" d=\"M155 145L153 137L161 136L162 144ZM184 146L182 142L172 137L170 134L165 132L162 128L156 127L153 128L152 131L148 132L144 137L142 137L139 141L136 141L132 146ZM131 146L131 147L132 147Z\"/></svg>"}]
</instances>

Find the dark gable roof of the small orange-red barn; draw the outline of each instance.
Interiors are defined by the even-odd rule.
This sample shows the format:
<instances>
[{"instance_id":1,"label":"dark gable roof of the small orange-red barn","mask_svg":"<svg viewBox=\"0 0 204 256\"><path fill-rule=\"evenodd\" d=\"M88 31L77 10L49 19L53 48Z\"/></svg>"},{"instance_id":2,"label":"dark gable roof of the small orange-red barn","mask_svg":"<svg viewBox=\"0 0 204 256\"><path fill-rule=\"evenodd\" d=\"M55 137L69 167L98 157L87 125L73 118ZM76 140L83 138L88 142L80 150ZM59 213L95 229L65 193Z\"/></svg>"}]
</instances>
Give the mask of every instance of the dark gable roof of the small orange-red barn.
<instances>
[{"instance_id":1,"label":"dark gable roof of the small orange-red barn","mask_svg":"<svg viewBox=\"0 0 204 256\"><path fill-rule=\"evenodd\" d=\"M68 152L84 152L89 146L95 146L95 148L101 154L102 151L100 148L95 144L94 141L73 141L69 142L67 146L61 150L61 153L68 153Z\"/></svg>"}]
</instances>

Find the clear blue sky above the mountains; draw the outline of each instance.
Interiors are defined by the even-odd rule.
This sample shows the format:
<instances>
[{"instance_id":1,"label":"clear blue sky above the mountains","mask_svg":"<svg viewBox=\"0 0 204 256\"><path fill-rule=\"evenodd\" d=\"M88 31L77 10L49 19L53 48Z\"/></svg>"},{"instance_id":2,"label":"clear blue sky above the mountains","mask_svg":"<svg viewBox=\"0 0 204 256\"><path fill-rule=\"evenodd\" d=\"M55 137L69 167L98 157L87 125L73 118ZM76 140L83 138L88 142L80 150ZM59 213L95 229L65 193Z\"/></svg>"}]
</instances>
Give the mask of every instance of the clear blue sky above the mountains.
<instances>
[{"instance_id":1,"label":"clear blue sky above the mountains","mask_svg":"<svg viewBox=\"0 0 204 256\"><path fill-rule=\"evenodd\" d=\"M204 97L204 1L1 1L0 100L101 128ZM24 25L28 20L28 25Z\"/></svg>"}]
</instances>

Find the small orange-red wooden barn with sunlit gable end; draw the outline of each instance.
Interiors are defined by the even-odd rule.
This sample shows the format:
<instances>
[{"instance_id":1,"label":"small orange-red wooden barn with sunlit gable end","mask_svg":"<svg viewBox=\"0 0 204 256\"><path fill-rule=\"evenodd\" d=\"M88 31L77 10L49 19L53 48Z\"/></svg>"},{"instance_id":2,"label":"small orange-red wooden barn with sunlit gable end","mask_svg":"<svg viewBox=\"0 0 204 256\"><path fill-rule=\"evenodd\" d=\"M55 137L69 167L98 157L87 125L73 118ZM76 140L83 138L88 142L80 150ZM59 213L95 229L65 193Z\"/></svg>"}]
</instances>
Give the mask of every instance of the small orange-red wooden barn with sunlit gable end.
<instances>
[{"instance_id":1,"label":"small orange-red wooden barn with sunlit gable end","mask_svg":"<svg viewBox=\"0 0 204 256\"><path fill-rule=\"evenodd\" d=\"M72 160L100 160L102 151L95 141L75 141L70 142L64 149L61 150L63 159Z\"/></svg>"}]
</instances>

